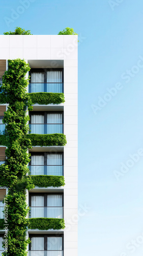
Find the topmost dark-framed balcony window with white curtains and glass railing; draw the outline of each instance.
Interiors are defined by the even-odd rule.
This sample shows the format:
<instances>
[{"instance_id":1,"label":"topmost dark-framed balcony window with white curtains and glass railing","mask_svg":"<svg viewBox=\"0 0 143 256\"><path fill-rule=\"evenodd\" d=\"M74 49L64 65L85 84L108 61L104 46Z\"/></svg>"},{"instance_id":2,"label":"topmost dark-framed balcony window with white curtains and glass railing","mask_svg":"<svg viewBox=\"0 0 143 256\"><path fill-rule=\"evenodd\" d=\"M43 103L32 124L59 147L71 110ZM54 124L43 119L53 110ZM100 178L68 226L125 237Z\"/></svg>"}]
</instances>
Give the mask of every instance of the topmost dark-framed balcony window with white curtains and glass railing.
<instances>
[{"instance_id":1,"label":"topmost dark-framed balcony window with white curtains and glass railing","mask_svg":"<svg viewBox=\"0 0 143 256\"><path fill-rule=\"evenodd\" d=\"M63 69L31 69L29 92L63 93Z\"/></svg>"}]
</instances>

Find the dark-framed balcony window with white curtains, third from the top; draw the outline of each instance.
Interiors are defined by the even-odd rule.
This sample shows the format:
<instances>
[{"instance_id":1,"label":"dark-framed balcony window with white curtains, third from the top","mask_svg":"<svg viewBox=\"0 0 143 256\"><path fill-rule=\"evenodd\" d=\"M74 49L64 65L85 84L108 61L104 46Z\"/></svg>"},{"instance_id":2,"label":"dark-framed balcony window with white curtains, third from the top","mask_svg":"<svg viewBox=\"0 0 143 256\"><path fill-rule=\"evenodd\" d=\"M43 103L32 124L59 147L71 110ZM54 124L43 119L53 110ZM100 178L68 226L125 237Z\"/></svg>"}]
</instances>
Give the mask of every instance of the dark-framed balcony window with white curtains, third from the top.
<instances>
[{"instance_id":1,"label":"dark-framed balcony window with white curtains, third from the top","mask_svg":"<svg viewBox=\"0 0 143 256\"><path fill-rule=\"evenodd\" d=\"M64 156L62 152L49 153L37 152L31 154L31 162L28 166L31 175L64 175Z\"/></svg>"}]
</instances>

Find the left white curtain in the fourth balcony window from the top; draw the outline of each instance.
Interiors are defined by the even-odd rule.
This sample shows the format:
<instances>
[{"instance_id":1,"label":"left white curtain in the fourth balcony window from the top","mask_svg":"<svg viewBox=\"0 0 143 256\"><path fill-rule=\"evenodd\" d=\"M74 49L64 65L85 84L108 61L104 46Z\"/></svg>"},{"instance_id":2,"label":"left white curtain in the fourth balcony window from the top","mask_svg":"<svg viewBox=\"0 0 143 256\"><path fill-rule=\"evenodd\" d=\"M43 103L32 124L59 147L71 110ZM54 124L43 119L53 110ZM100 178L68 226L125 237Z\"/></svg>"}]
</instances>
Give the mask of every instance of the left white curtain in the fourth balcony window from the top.
<instances>
[{"instance_id":1,"label":"left white curtain in the fourth balcony window from the top","mask_svg":"<svg viewBox=\"0 0 143 256\"><path fill-rule=\"evenodd\" d=\"M44 218L44 196L32 196L31 206L31 218Z\"/></svg>"}]
</instances>

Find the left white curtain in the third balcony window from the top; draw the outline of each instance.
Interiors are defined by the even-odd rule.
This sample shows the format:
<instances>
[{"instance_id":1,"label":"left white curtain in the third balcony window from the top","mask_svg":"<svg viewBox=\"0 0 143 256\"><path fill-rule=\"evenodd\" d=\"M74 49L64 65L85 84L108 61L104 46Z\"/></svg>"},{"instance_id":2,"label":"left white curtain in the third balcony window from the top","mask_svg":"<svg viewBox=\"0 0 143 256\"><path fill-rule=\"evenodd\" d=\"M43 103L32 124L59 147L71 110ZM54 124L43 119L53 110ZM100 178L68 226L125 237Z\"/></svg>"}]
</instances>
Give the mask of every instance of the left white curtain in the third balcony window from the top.
<instances>
[{"instance_id":1,"label":"left white curtain in the third balcony window from the top","mask_svg":"<svg viewBox=\"0 0 143 256\"><path fill-rule=\"evenodd\" d=\"M32 155L31 165L30 165L31 175L44 175L44 166L43 166L44 156L43 155ZM36 165L36 166L33 166L33 165Z\"/></svg>"}]
</instances>

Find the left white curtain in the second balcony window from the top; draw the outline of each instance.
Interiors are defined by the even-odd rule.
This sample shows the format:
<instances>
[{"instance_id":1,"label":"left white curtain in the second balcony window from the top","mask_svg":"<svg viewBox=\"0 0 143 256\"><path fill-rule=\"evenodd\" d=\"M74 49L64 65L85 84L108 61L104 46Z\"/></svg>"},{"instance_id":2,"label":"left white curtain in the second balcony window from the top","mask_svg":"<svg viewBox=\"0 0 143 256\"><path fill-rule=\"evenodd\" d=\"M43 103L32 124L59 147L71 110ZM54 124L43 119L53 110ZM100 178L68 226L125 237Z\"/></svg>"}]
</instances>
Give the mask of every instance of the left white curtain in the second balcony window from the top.
<instances>
[{"instance_id":1,"label":"left white curtain in the second balcony window from the top","mask_svg":"<svg viewBox=\"0 0 143 256\"><path fill-rule=\"evenodd\" d=\"M44 115L32 115L30 129L32 134L44 134Z\"/></svg>"}]
</instances>

